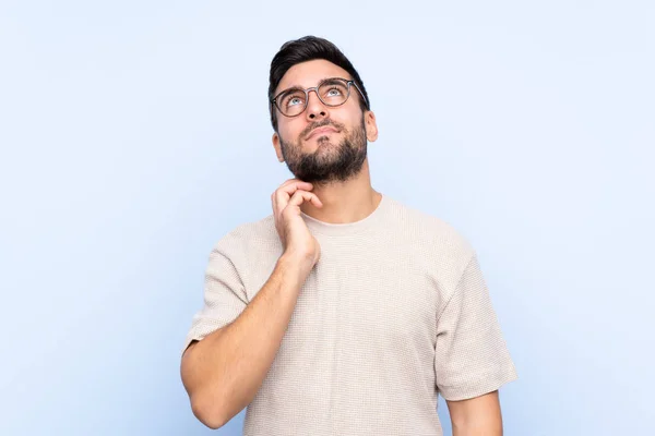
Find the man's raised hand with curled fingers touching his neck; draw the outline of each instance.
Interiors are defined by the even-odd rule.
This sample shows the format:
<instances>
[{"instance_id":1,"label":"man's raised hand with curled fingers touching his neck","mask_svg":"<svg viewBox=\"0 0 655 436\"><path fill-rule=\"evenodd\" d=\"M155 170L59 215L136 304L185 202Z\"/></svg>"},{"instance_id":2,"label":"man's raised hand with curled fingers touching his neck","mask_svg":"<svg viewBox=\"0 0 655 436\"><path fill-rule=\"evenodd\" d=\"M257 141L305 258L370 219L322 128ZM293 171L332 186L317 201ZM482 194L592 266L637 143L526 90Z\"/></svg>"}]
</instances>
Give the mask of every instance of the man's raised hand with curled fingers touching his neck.
<instances>
[{"instance_id":1,"label":"man's raised hand with curled fingers touching his neck","mask_svg":"<svg viewBox=\"0 0 655 436\"><path fill-rule=\"evenodd\" d=\"M300 215L300 205L311 202L317 207L323 207L317 194L310 192L312 189L311 183L290 179L271 195L275 229L284 246L284 253L309 262L309 269L319 262L321 246L305 223Z\"/></svg>"}]
</instances>

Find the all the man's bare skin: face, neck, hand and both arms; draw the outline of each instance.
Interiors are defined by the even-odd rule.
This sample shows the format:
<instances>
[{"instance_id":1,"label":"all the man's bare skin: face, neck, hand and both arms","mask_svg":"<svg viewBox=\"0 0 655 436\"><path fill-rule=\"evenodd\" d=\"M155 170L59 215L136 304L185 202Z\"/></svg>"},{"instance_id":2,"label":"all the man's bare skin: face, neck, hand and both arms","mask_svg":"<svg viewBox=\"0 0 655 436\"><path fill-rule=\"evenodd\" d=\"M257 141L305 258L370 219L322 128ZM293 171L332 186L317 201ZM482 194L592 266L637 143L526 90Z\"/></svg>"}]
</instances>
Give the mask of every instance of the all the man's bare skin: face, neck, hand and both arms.
<instances>
[{"instance_id":1,"label":"all the man's bare skin: face, neck, hand and both arms","mask_svg":"<svg viewBox=\"0 0 655 436\"><path fill-rule=\"evenodd\" d=\"M291 86L312 87L326 77L352 78L327 61L310 61L289 69L277 92ZM300 213L345 223L366 218L380 203L362 148L362 137L369 142L378 138L378 126L373 112L361 111L359 98L352 92L344 105L326 107L312 92L301 116L278 118L273 146L281 162L288 159L289 169L296 169L303 156L312 154L317 164L329 168L343 158L346 146L354 152L350 156L362 159L348 170L322 173L312 184L287 180L271 195L275 227L284 245L274 271L243 313L193 342L182 356L181 377L193 413L211 428L219 428L252 401L275 359L301 286L320 258L320 245ZM317 125L335 129L311 135ZM502 435L498 391L448 401L448 407L453 435Z\"/></svg>"}]
</instances>

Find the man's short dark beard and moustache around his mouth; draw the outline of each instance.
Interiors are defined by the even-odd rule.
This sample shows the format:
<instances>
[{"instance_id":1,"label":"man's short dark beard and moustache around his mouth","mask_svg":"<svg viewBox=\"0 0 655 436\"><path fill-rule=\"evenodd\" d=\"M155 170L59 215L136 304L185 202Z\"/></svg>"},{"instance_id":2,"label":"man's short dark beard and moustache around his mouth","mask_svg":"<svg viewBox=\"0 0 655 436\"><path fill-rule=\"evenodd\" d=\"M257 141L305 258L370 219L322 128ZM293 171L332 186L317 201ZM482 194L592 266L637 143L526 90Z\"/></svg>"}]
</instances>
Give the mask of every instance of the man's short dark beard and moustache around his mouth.
<instances>
[{"instance_id":1,"label":"man's short dark beard and moustache around his mouth","mask_svg":"<svg viewBox=\"0 0 655 436\"><path fill-rule=\"evenodd\" d=\"M343 140L333 144L327 136L317 140L319 146L313 153L302 152L302 138L313 129L332 125L343 133ZM299 180L317 185L344 182L361 171L367 156L366 126L364 117L360 125L349 131L345 125L325 119L305 129L295 143L279 137L282 156L287 168Z\"/></svg>"}]
</instances>

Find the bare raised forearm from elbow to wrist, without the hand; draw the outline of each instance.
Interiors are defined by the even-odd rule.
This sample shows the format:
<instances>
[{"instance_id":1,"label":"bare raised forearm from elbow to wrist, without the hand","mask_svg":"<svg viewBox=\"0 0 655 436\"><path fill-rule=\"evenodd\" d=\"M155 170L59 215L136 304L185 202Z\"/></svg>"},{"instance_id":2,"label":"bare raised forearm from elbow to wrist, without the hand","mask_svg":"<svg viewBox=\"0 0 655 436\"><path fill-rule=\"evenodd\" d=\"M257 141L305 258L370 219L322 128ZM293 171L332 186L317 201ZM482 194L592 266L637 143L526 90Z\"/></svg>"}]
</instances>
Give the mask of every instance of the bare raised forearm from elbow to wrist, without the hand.
<instances>
[{"instance_id":1,"label":"bare raised forearm from elbow to wrist, without the hand","mask_svg":"<svg viewBox=\"0 0 655 436\"><path fill-rule=\"evenodd\" d=\"M288 327L308 271L282 256L262 289L226 327L188 350L182 380L193 412L219 427L254 398Z\"/></svg>"}]
</instances>

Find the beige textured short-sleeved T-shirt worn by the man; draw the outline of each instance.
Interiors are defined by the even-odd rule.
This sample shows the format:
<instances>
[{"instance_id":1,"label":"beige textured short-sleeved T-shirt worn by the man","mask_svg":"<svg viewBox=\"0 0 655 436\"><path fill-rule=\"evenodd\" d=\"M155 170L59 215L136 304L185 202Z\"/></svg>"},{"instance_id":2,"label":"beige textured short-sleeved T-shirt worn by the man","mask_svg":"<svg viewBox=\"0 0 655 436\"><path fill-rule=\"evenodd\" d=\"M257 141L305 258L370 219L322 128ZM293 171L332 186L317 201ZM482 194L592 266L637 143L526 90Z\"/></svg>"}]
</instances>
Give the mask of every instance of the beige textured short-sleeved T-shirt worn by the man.
<instances>
[{"instance_id":1,"label":"beige textured short-sleeved T-shirt worn by the man","mask_svg":"<svg viewBox=\"0 0 655 436\"><path fill-rule=\"evenodd\" d=\"M475 251L451 226L388 196L358 222L303 219L321 259L243 435L440 436L439 393L517 378ZM272 215L218 241L184 348L243 311L282 250Z\"/></svg>"}]
</instances>

